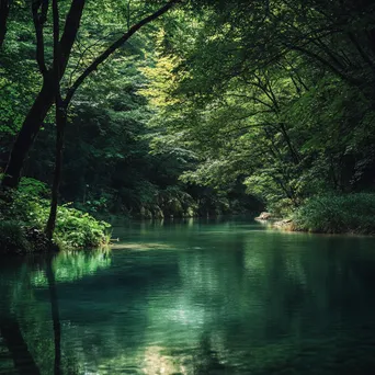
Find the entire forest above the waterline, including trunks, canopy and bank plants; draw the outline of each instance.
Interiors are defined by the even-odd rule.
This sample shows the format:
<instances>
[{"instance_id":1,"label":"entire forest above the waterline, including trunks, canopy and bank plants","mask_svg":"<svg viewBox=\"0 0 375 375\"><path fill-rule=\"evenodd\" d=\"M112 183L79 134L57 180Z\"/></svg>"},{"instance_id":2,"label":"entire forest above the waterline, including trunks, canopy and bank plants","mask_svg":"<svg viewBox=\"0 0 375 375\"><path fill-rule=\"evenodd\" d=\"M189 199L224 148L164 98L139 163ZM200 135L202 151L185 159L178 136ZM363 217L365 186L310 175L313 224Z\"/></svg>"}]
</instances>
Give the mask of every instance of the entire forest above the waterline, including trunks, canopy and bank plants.
<instances>
[{"instance_id":1,"label":"entire forest above the waterline, including trunks, canopy and bank plants","mask_svg":"<svg viewBox=\"0 0 375 375\"><path fill-rule=\"evenodd\" d=\"M112 217L375 232L372 0L0 0L0 249Z\"/></svg>"}]
</instances>

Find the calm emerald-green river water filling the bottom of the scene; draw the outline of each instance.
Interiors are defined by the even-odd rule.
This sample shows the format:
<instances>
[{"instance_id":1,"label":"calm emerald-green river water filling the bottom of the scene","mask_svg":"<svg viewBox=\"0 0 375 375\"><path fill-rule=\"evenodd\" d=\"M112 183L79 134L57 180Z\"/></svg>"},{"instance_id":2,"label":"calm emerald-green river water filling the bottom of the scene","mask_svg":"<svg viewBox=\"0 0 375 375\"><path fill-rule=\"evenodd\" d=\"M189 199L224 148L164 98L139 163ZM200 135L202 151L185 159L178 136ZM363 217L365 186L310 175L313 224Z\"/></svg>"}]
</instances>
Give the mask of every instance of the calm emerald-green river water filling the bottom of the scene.
<instances>
[{"instance_id":1,"label":"calm emerald-green river water filling the bottom of the scene","mask_svg":"<svg viewBox=\"0 0 375 375\"><path fill-rule=\"evenodd\" d=\"M114 236L53 273L1 260L0 374L375 374L375 238L224 219Z\"/></svg>"}]
</instances>

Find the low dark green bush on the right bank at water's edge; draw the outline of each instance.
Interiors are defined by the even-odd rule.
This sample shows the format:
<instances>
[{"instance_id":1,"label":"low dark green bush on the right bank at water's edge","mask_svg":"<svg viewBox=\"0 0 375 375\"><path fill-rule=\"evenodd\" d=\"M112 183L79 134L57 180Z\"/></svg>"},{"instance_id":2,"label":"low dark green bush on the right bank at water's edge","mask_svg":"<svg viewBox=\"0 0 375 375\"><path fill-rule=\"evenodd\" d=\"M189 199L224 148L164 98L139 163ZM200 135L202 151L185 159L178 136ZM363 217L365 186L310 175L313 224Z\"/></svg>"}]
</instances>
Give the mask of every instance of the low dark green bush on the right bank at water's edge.
<instances>
[{"instance_id":1,"label":"low dark green bush on the right bank at water's edge","mask_svg":"<svg viewBox=\"0 0 375 375\"><path fill-rule=\"evenodd\" d=\"M294 214L293 221L297 230L375 234L375 194L316 196Z\"/></svg>"}]
</instances>

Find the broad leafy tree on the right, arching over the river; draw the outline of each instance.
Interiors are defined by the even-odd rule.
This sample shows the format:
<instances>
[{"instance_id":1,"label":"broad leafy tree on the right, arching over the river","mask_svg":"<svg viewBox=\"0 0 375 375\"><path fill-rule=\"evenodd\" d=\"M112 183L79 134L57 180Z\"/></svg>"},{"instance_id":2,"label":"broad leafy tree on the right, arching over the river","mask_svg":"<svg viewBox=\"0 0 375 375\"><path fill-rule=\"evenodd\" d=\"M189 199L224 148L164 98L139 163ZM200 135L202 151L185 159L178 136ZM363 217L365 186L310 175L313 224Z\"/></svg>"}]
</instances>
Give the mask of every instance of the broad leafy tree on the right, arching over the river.
<instances>
[{"instance_id":1,"label":"broad leafy tree on the right, arching over the river","mask_svg":"<svg viewBox=\"0 0 375 375\"><path fill-rule=\"evenodd\" d=\"M367 1L236 1L196 22L190 48L170 37L169 60L180 64L162 80L162 56L148 94L168 93L159 122L175 147L201 159L183 178L211 185L240 178L275 209L327 190L371 188L372 14Z\"/></svg>"}]
</instances>

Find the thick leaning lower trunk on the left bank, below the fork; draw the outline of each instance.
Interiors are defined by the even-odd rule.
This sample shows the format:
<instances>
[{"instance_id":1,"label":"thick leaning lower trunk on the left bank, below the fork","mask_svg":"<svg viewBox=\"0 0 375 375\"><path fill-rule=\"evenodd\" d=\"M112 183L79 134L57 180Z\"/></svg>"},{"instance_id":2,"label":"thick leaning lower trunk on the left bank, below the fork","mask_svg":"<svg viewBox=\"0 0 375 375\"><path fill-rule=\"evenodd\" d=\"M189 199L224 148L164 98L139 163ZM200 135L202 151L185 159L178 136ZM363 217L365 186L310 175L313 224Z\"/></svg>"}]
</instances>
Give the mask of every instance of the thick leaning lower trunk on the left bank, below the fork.
<instances>
[{"instance_id":1,"label":"thick leaning lower trunk on the left bank, below the fork","mask_svg":"<svg viewBox=\"0 0 375 375\"><path fill-rule=\"evenodd\" d=\"M21 130L13 145L8 166L2 180L3 188L16 188L24 161L27 157L44 118L54 104L54 86L49 78L45 79L32 109L29 111Z\"/></svg>"}]
</instances>

